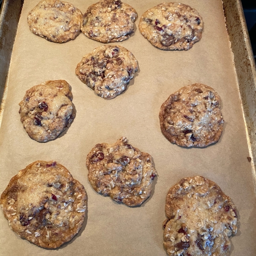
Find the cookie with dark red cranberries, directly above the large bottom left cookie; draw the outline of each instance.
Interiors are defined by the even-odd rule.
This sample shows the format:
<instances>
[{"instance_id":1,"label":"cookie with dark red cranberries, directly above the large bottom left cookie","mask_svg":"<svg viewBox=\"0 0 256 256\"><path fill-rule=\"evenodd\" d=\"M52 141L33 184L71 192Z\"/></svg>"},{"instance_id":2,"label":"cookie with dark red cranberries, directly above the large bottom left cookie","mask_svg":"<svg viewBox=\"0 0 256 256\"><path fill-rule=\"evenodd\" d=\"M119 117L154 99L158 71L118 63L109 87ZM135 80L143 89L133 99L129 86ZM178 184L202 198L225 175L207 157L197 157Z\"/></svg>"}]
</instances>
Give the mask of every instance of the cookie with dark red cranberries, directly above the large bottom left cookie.
<instances>
[{"instance_id":1,"label":"cookie with dark red cranberries, directly above the large bottom left cookie","mask_svg":"<svg viewBox=\"0 0 256 256\"><path fill-rule=\"evenodd\" d=\"M46 81L27 90L19 113L29 137L46 142L70 127L75 117L72 99L71 86L65 80Z\"/></svg>"}]
</instances>

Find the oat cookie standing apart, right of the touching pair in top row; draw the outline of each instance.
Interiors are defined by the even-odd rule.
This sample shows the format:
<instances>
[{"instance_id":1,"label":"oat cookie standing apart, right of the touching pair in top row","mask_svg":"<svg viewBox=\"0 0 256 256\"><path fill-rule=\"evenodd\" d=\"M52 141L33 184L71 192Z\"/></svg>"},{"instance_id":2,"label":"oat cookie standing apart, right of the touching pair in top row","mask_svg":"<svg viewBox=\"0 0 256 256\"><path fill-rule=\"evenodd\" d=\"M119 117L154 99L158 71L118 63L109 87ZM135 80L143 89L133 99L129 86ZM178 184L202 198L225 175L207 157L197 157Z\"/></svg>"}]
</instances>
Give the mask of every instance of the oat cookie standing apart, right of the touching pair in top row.
<instances>
[{"instance_id":1,"label":"oat cookie standing apart, right of the touching pair in top row","mask_svg":"<svg viewBox=\"0 0 256 256\"><path fill-rule=\"evenodd\" d=\"M189 50L202 37L203 20L186 4L160 3L141 16L139 29L155 47Z\"/></svg>"}]
</instances>

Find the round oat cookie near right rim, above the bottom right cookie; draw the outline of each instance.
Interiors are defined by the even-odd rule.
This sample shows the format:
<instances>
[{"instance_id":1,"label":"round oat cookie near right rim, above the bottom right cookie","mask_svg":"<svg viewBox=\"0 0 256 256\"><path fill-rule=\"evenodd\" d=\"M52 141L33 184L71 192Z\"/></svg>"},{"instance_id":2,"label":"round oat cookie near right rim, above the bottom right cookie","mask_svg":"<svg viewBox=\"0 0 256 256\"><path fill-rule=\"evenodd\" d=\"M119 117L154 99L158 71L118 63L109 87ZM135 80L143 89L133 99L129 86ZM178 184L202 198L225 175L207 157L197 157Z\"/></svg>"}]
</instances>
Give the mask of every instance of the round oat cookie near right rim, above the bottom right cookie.
<instances>
[{"instance_id":1,"label":"round oat cookie near right rim, above the bottom right cookie","mask_svg":"<svg viewBox=\"0 0 256 256\"><path fill-rule=\"evenodd\" d=\"M159 113L163 135L184 147L204 147L221 137L223 119L218 93L204 84L182 87L163 103Z\"/></svg>"}]
</instances>

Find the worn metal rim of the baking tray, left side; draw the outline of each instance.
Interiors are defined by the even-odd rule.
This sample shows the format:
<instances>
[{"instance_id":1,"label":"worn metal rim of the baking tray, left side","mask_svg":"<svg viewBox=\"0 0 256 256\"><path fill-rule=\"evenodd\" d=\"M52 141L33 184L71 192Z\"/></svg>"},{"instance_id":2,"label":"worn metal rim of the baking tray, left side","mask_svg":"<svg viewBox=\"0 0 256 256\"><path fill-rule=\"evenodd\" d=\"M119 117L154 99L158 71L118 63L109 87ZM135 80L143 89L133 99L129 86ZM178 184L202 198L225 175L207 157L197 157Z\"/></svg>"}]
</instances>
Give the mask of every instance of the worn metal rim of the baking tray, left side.
<instances>
[{"instance_id":1,"label":"worn metal rim of the baking tray, left side","mask_svg":"<svg viewBox=\"0 0 256 256\"><path fill-rule=\"evenodd\" d=\"M0 125L7 96L7 80L23 0L3 0L0 9Z\"/></svg>"}]
</instances>

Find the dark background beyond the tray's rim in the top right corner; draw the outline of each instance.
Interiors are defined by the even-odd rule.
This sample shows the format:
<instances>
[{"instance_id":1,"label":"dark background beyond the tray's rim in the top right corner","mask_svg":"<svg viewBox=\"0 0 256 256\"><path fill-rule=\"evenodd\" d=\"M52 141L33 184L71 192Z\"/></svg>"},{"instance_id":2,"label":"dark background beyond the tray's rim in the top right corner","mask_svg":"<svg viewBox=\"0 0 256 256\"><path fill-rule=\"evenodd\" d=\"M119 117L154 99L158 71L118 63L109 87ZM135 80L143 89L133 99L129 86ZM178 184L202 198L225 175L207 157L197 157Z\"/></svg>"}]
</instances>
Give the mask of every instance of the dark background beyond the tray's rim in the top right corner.
<instances>
[{"instance_id":1,"label":"dark background beyond the tray's rim in the top right corner","mask_svg":"<svg viewBox=\"0 0 256 256\"><path fill-rule=\"evenodd\" d=\"M39 2L40 0L38 0ZM65 0L68 2L68 0ZM0 7L3 0L0 0ZM241 0L244 16L247 23L248 32L250 35L250 41L253 48L254 59L256 60L256 0Z\"/></svg>"}]
</instances>

